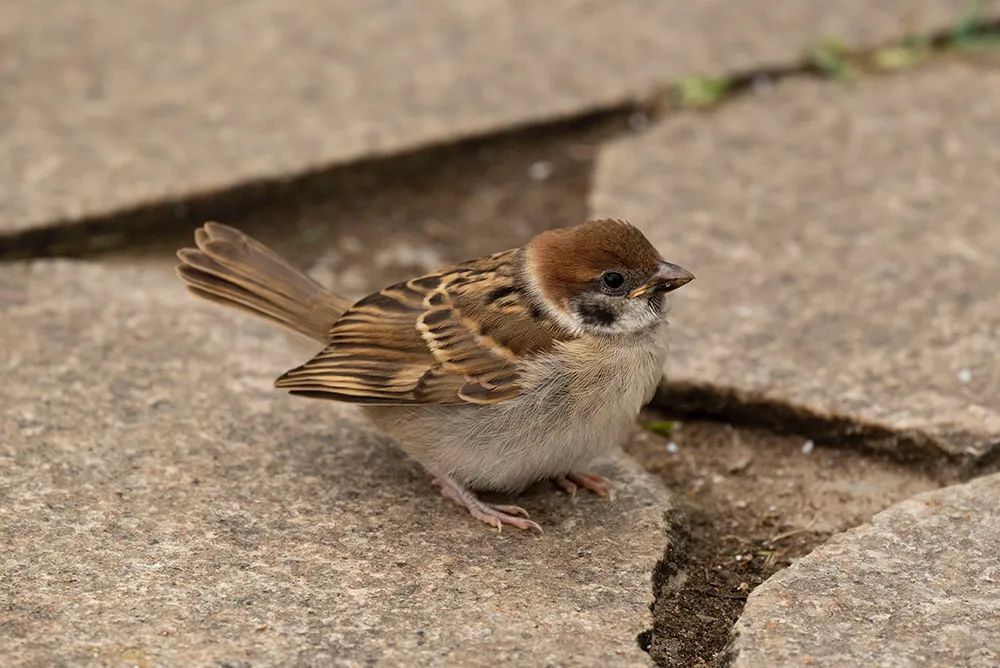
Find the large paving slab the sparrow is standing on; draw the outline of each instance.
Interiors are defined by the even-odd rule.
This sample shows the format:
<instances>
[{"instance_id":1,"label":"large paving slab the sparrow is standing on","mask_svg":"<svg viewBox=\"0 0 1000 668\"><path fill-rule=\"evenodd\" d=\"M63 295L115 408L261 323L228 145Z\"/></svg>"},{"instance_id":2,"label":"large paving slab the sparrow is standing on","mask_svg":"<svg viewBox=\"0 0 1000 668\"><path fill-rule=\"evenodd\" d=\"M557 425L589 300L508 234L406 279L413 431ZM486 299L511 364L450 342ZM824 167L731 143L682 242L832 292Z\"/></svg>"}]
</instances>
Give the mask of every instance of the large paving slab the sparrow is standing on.
<instances>
[{"instance_id":1,"label":"large paving slab the sparrow is standing on","mask_svg":"<svg viewBox=\"0 0 1000 668\"><path fill-rule=\"evenodd\" d=\"M3 665L648 661L668 504L629 460L498 535L160 265L5 265L0 318Z\"/></svg>"}]
</instances>

